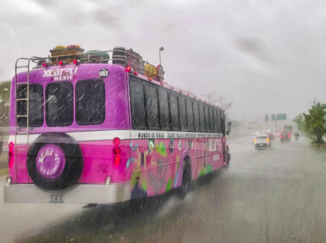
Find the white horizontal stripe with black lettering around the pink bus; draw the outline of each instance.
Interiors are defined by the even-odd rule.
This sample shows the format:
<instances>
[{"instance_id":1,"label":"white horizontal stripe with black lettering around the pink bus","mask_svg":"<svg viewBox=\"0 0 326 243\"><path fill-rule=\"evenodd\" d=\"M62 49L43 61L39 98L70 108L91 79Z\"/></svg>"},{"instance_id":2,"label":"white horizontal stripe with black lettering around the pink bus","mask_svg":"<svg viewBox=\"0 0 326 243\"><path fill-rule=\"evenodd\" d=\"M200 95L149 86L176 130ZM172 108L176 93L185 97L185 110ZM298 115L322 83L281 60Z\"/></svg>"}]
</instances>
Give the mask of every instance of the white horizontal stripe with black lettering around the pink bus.
<instances>
[{"instance_id":1,"label":"white horizontal stripe with black lettering around the pink bus","mask_svg":"<svg viewBox=\"0 0 326 243\"><path fill-rule=\"evenodd\" d=\"M103 130L103 131L82 131L66 132L76 141L96 141L120 139L170 139L170 138L219 138L222 133L205 132L177 132L161 130ZM29 134L28 142L32 143L41 134ZM9 142L14 142L15 135L9 136ZM27 134L17 135L17 143L26 143ZM15 142L14 142L15 143Z\"/></svg>"}]
</instances>

